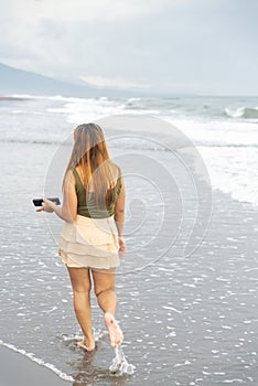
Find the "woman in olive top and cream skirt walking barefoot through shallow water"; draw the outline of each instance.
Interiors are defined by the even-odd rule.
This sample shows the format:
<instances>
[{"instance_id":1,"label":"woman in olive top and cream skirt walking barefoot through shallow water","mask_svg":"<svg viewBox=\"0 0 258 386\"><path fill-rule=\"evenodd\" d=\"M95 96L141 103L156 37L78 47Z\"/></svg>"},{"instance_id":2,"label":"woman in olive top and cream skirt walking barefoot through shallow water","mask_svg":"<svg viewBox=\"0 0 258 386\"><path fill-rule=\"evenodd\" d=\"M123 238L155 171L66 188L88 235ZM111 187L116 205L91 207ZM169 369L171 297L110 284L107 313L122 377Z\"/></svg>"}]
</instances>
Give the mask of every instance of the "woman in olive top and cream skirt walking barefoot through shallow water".
<instances>
[{"instance_id":1,"label":"woman in olive top and cream skirt walking barefoot through shallow water","mask_svg":"<svg viewBox=\"0 0 258 386\"><path fill-rule=\"evenodd\" d=\"M85 124L74 130L74 147L63 180L63 205L43 197L37 212L55 212L65 221L58 255L66 265L73 287L74 310L84 333L77 344L95 349L90 319L92 278L95 293L116 347L122 331L116 319L115 270L126 251L122 237L125 184L121 171L108 156L101 128ZM92 272L92 278L90 278Z\"/></svg>"}]
</instances>

